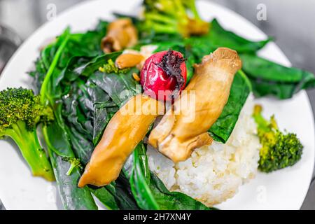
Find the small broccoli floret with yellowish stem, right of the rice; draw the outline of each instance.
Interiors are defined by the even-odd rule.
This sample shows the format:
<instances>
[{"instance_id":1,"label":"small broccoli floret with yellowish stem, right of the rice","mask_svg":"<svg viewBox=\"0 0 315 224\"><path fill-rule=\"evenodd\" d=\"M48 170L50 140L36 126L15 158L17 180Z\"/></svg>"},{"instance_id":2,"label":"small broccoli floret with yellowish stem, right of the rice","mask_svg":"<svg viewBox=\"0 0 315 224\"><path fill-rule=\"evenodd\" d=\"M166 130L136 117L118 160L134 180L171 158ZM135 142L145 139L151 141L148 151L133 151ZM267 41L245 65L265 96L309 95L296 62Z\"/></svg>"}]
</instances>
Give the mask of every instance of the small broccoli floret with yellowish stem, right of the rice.
<instances>
[{"instance_id":1,"label":"small broccoli floret with yellowish stem, right of the rice","mask_svg":"<svg viewBox=\"0 0 315 224\"><path fill-rule=\"evenodd\" d=\"M276 124L274 116L270 120L262 117L262 106L256 105L253 118L258 128L260 139L260 160L258 169L261 172L273 172L295 165L302 155L303 146L296 134L283 134Z\"/></svg>"}]
</instances>

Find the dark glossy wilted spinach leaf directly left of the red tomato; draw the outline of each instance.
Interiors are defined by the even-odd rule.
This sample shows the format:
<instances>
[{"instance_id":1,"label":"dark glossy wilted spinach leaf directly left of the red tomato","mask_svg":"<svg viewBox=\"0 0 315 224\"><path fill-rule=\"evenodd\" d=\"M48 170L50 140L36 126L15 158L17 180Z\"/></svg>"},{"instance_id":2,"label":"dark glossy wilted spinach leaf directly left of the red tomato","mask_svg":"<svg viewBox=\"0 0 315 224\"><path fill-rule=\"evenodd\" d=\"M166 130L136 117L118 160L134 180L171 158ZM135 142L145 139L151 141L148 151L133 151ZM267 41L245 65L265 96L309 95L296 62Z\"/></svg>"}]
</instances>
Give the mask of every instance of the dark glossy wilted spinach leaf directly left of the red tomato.
<instances>
[{"instance_id":1,"label":"dark glossy wilted spinach leaf directly left of the red tomato","mask_svg":"<svg viewBox=\"0 0 315 224\"><path fill-rule=\"evenodd\" d=\"M77 63L78 67L89 68L80 70L81 72L78 72L76 66L71 66L71 69L67 67L64 71L63 85L71 86L71 90L63 97L64 119L94 145L99 141L104 128L119 106L134 94L141 92L141 87L137 88L138 83L132 77L132 73L138 71L137 69L130 69L127 73L98 71L100 59L105 64L109 58L115 59L117 55L118 53L113 53L97 57L85 65Z\"/></svg>"}]
</instances>

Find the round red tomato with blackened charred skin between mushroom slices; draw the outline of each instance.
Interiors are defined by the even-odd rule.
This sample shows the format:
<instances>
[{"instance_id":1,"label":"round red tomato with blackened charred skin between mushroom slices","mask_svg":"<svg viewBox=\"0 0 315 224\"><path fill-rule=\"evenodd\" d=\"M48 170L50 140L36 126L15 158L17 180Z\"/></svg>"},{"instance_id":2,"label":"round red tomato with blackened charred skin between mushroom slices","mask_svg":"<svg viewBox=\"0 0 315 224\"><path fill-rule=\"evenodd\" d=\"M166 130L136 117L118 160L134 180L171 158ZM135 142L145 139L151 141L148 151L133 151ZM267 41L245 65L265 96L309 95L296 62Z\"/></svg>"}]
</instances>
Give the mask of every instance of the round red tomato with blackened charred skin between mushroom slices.
<instances>
[{"instance_id":1,"label":"round red tomato with blackened charred skin between mushroom slices","mask_svg":"<svg viewBox=\"0 0 315 224\"><path fill-rule=\"evenodd\" d=\"M146 59L141 70L144 93L159 100L172 101L185 88L186 64L181 52L166 50Z\"/></svg>"}]
</instances>

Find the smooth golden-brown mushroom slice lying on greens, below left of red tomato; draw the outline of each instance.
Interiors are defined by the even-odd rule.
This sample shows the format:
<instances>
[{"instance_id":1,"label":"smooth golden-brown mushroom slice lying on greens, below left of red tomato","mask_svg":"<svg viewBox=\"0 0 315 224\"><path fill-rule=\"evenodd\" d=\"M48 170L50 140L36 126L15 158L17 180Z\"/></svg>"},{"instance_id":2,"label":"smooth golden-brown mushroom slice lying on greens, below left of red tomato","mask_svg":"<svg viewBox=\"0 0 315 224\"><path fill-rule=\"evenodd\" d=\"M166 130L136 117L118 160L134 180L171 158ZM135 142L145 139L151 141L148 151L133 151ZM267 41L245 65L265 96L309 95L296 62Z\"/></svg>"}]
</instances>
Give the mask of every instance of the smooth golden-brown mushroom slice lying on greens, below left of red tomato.
<instances>
[{"instance_id":1,"label":"smooth golden-brown mushroom slice lying on greens, below left of red tomato","mask_svg":"<svg viewBox=\"0 0 315 224\"><path fill-rule=\"evenodd\" d=\"M97 144L78 186L105 186L115 181L125 161L144 139L164 104L144 94L132 97L114 116Z\"/></svg>"}]
</instances>

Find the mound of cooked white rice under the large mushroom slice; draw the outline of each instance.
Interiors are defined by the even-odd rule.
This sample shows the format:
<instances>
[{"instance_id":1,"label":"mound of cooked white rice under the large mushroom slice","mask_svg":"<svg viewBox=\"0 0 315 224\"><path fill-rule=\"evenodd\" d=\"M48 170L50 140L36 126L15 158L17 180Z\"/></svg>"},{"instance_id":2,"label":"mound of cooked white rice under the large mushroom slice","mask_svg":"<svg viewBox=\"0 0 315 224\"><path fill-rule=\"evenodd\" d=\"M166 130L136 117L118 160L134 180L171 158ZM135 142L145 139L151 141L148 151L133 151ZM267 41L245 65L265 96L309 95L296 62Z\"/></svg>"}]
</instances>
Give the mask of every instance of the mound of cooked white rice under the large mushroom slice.
<instances>
[{"instance_id":1,"label":"mound of cooked white rice under the large mushroom slice","mask_svg":"<svg viewBox=\"0 0 315 224\"><path fill-rule=\"evenodd\" d=\"M253 179L259 160L259 140L248 97L228 142L195 150L188 160L174 164L148 147L148 164L169 190L176 190L212 206L233 197L239 186Z\"/></svg>"}]
</instances>

